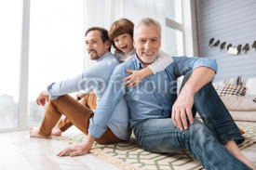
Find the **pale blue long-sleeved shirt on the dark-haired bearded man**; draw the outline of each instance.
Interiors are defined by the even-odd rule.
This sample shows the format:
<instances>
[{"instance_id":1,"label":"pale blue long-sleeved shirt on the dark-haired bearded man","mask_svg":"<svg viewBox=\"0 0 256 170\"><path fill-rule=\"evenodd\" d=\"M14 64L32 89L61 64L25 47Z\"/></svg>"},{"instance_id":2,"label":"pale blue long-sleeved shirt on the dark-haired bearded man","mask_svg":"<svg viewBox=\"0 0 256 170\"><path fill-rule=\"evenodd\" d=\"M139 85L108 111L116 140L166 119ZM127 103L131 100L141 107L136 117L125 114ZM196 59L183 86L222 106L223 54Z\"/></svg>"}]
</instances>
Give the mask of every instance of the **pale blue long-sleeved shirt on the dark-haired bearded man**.
<instances>
[{"instance_id":1,"label":"pale blue long-sleeved shirt on the dark-haired bearded man","mask_svg":"<svg viewBox=\"0 0 256 170\"><path fill-rule=\"evenodd\" d=\"M80 90L85 90L86 92L93 90L97 96L98 107L101 105L101 97L108 85L111 74L118 64L119 61L115 55L108 52L104 54L101 59L98 59L97 63L90 67L86 72L81 73L73 79L48 85L47 91L50 94L50 98L57 99L61 95ZM104 103L111 102L112 99L105 101ZM115 108L112 111L112 115L108 117L108 122L106 124L111 128L116 137L128 140L131 134L131 128L129 128L128 124L129 111L126 100L124 98L120 98L118 103L115 103ZM94 116L97 116L98 111L93 112ZM90 122L91 125L88 130L94 127L92 119L90 119ZM102 129L105 131L106 127L104 126Z\"/></svg>"}]
</instances>

